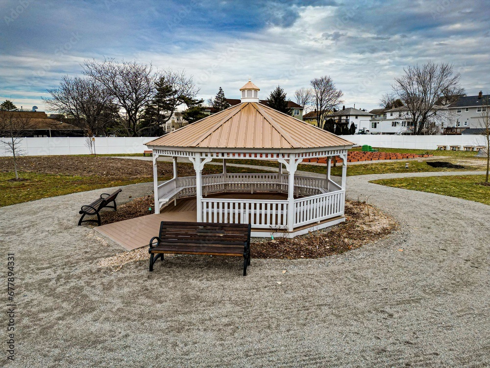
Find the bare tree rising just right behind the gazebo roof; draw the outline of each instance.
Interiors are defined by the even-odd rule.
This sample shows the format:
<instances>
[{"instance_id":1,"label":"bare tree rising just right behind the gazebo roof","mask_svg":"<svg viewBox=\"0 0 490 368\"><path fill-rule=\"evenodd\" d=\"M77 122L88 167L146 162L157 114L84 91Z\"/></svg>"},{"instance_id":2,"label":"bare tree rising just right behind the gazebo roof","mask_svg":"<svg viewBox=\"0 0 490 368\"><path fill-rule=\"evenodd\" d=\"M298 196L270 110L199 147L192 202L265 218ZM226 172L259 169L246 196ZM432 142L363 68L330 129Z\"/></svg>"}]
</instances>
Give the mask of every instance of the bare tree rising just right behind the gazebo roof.
<instances>
[{"instance_id":1,"label":"bare tree rising just right behind the gazebo roof","mask_svg":"<svg viewBox=\"0 0 490 368\"><path fill-rule=\"evenodd\" d=\"M313 105L317 109L317 126L321 128L325 115L342 104L343 92L335 88L329 76L312 79L310 84L313 89Z\"/></svg>"}]
</instances>

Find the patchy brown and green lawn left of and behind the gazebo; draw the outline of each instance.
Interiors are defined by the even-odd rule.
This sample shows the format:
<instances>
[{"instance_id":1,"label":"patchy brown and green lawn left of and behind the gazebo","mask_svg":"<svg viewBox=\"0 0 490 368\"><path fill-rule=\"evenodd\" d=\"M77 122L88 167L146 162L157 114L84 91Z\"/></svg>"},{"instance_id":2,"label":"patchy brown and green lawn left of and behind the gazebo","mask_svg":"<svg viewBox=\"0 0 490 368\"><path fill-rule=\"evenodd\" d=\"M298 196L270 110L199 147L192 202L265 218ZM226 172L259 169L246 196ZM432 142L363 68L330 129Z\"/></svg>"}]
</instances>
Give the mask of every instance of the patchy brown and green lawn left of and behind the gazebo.
<instances>
[{"instance_id":1,"label":"patchy brown and green lawn left of and behind the gazebo","mask_svg":"<svg viewBox=\"0 0 490 368\"><path fill-rule=\"evenodd\" d=\"M152 163L121 158L80 156L21 157L15 178L11 158L0 158L0 207L86 190L152 182ZM229 173L261 173L242 167L228 167ZM172 162L159 162L160 180L172 177ZM203 175L222 172L220 165L204 165ZM191 163L178 163L179 176L195 175Z\"/></svg>"}]
</instances>

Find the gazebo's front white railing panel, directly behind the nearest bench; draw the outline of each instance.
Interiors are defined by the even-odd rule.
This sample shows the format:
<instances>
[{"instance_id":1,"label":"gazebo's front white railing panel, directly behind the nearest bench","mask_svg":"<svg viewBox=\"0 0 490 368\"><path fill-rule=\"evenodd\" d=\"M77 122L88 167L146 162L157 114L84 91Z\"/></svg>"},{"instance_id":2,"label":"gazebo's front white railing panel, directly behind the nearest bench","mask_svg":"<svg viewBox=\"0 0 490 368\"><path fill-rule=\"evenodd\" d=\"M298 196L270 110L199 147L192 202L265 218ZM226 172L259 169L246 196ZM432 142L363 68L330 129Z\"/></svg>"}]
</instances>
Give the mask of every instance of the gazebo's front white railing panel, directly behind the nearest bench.
<instances>
[{"instance_id":1,"label":"gazebo's front white railing panel, directly behind the nearest bench","mask_svg":"<svg viewBox=\"0 0 490 368\"><path fill-rule=\"evenodd\" d=\"M202 221L248 224L252 228L285 229L288 201L250 199L202 200Z\"/></svg>"}]
</instances>

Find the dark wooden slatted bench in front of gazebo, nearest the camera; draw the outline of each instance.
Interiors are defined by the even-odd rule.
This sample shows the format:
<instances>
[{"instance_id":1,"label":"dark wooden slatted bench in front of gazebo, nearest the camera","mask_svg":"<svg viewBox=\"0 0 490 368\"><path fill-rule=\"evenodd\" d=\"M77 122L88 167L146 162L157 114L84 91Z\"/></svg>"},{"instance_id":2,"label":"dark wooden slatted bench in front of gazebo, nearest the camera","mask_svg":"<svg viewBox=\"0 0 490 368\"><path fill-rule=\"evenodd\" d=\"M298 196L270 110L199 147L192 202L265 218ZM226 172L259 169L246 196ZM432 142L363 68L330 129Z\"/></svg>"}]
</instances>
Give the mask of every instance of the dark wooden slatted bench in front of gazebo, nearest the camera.
<instances>
[{"instance_id":1,"label":"dark wooden slatted bench in front of gazebo, nearest the camera","mask_svg":"<svg viewBox=\"0 0 490 368\"><path fill-rule=\"evenodd\" d=\"M160 234L149 242L150 271L165 253L237 256L250 264L250 224L162 221ZM156 256L155 256L156 255Z\"/></svg>"}]
</instances>

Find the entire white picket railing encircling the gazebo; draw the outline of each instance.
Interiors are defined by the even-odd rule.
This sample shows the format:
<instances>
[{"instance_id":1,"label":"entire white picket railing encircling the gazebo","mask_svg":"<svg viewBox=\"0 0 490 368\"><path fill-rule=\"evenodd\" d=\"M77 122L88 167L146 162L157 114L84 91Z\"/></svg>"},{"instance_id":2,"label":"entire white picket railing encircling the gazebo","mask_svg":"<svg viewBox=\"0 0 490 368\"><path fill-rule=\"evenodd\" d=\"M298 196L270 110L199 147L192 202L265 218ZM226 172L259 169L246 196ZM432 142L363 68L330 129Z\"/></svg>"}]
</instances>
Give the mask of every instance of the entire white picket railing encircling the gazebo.
<instances>
[{"instance_id":1,"label":"entire white picket railing encircling the gazebo","mask_svg":"<svg viewBox=\"0 0 490 368\"><path fill-rule=\"evenodd\" d=\"M202 176L202 194L221 192L288 192L287 174L214 174ZM326 178L296 176L294 227L343 214L345 192ZM158 185L159 203L196 195L196 177L183 177ZM251 223L253 228L285 229L287 200L203 198L204 222Z\"/></svg>"}]
</instances>

